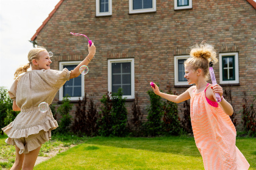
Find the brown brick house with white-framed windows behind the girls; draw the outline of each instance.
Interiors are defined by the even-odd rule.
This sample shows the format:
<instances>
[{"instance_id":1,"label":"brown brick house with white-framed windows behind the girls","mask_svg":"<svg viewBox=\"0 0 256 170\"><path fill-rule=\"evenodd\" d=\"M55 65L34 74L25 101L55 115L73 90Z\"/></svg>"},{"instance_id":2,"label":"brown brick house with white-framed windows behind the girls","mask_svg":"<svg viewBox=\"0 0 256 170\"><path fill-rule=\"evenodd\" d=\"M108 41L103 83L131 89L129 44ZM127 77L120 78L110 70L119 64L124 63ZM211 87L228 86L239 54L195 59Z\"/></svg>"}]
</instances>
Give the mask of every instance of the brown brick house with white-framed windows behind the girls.
<instances>
[{"instance_id":1,"label":"brown brick house with white-framed windows behind the girls","mask_svg":"<svg viewBox=\"0 0 256 170\"><path fill-rule=\"evenodd\" d=\"M100 104L102 95L122 87L129 114L137 93L146 118L149 83L163 92L171 84L182 94L189 87L183 78L188 47L207 40L219 56L216 80L232 90L240 122L243 92L256 95L255 9L253 0L60 0L31 41L54 53L56 70L71 70L88 54L87 38L69 32L87 35L97 48L89 73L67 81L55 104L67 93L76 103L85 92Z\"/></svg>"}]
</instances>

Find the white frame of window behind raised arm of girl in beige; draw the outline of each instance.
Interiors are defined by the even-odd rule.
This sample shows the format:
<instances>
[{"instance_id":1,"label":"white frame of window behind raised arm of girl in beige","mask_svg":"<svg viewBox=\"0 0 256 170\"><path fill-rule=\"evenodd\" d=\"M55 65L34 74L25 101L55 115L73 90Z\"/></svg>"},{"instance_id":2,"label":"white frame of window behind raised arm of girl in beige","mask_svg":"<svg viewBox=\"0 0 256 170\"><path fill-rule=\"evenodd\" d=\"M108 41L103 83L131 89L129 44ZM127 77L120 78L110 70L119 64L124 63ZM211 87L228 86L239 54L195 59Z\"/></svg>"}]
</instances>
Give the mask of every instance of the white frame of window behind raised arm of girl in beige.
<instances>
[{"instance_id":1,"label":"white frame of window behind raised arm of girl in beige","mask_svg":"<svg viewBox=\"0 0 256 170\"><path fill-rule=\"evenodd\" d=\"M60 61L59 63L59 68L60 70L62 71L64 66L66 65L78 65L80 64L82 61ZM70 71L70 70L69 70ZM74 101L74 100L82 100L82 98L84 97L85 95L85 77L84 75L81 74L81 97L70 97L69 99ZM62 101L63 100L63 86L60 87L60 90L59 90L59 101Z\"/></svg>"}]
</instances>

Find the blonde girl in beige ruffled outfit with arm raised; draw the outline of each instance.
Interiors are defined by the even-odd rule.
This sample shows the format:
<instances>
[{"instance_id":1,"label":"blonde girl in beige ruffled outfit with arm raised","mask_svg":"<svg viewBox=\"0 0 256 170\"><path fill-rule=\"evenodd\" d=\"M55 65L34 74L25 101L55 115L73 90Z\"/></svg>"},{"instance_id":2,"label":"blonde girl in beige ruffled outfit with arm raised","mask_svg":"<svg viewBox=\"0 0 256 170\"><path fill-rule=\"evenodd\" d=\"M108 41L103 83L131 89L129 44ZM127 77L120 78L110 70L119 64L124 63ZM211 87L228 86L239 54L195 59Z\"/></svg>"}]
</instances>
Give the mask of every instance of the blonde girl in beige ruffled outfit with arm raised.
<instances>
[{"instance_id":1,"label":"blonde girl in beige ruffled outfit with arm raised","mask_svg":"<svg viewBox=\"0 0 256 170\"><path fill-rule=\"evenodd\" d=\"M71 78L80 75L79 68L88 65L96 52L94 43L88 45L89 54L74 70L51 70L51 58L43 47L29 51L29 63L15 72L15 82L10 88L9 95L13 100L13 110L19 111L14 121L2 128L8 135L6 143L15 145L16 159L14 169L33 169L41 144L51 139L51 131L58 127L52 116L51 109L40 112L41 102L52 103L60 87ZM32 70L27 71L31 67ZM21 75L24 73L23 75Z\"/></svg>"}]
</instances>

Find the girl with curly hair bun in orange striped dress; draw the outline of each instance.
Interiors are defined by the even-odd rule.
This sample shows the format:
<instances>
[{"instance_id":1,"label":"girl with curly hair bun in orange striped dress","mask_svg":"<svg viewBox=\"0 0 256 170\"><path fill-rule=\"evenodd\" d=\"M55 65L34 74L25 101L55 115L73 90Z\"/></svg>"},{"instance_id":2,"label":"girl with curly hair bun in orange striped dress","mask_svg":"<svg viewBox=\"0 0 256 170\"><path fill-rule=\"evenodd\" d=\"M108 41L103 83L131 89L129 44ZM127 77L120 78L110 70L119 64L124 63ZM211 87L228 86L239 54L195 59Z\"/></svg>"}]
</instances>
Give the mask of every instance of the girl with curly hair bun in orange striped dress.
<instances>
[{"instance_id":1,"label":"girl with curly hair bun in orange striped dress","mask_svg":"<svg viewBox=\"0 0 256 170\"><path fill-rule=\"evenodd\" d=\"M232 106L223 98L222 87L207 83L209 63L217 63L212 45L202 42L191 47L190 58L184 62L188 84L195 84L183 94L169 95L160 92L157 84L152 87L156 95L174 103L190 99L190 117L196 146L202 155L204 168L249 169L249 163L235 146L236 130L229 115ZM221 96L216 102L215 93Z\"/></svg>"}]
</instances>

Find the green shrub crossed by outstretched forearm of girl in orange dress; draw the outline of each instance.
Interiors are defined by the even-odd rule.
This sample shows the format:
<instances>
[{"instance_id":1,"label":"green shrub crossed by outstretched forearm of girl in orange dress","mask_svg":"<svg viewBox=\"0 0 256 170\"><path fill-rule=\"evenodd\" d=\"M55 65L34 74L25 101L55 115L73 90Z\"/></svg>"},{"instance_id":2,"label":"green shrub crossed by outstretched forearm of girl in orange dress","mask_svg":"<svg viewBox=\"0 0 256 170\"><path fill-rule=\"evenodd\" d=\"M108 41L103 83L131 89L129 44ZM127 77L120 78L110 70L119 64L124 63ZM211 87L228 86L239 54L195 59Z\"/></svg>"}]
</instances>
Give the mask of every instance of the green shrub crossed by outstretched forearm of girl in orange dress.
<instances>
[{"instance_id":1,"label":"green shrub crossed by outstretched forearm of girl in orange dress","mask_svg":"<svg viewBox=\"0 0 256 170\"><path fill-rule=\"evenodd\" d=\"M168 88L168 94L172 94L171 84L166 86ZM174 92L174 95L177 95ZM179 135L182 131L180 126L180 118L178 116L178 106L169 100L163 102L163 132L166 135Z\"/></svg>"}]
</instances>

